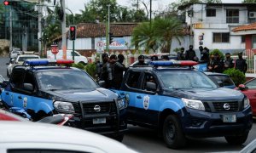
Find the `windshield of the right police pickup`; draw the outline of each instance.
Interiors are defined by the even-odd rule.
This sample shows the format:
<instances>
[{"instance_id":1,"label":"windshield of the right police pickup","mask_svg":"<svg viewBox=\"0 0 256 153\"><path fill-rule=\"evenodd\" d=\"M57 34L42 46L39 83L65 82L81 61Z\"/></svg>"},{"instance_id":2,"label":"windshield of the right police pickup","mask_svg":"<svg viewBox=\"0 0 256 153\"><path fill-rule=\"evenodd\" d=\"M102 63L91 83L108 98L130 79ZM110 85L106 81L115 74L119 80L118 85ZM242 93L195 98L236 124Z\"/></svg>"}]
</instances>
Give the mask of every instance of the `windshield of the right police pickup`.
<instances>
[{"instance_id":1,"label":"windshield of the right police pickup","mask_svg":"<svg viewBox=\"0 0 256 153\"><path fill-rule=\"evenodd\" d=\"M160 79L165 88L217 88L217 85L199 71L160 71Z\"/></svg>"}]
</instances>

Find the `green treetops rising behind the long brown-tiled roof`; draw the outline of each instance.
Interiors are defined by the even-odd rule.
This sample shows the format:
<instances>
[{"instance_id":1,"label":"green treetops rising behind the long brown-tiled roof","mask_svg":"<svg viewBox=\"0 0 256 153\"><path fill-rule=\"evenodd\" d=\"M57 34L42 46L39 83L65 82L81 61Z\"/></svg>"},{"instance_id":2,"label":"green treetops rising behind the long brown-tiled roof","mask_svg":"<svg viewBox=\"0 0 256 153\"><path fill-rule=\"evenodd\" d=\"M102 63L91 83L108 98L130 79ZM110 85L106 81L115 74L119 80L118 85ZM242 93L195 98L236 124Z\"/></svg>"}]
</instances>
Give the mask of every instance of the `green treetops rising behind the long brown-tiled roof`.
<instances>
[{"instance_id":1,"label":"green treetops rising behind the long brown-tiled roof","mask_svg":"<svg viewBox=\"0 0 256 153\"><path fill-rule=\"evenodd\" d=\"M120 6L116 0L90 0L84 4L81 14L75 14L75 24L80 22L104 22L108 20L108 5L111 22L141 22L148 20L142 8L132 4L132 8ZM67 15L67 25L73 20L73 15Z\"/></svg>"}]
</instances>

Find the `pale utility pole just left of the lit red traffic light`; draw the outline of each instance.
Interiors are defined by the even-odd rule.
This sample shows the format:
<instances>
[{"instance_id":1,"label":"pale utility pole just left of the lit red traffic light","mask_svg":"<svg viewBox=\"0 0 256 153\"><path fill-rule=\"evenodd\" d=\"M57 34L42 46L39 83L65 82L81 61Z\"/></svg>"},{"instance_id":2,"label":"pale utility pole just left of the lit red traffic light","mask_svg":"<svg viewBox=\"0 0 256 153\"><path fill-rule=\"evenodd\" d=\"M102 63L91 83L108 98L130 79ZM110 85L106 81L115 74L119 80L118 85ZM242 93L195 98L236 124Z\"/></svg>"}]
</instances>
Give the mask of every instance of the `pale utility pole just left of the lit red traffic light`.
<instances>
[{"instance_id":1,"label":"pale utility pole just left of the lit red traffic light","mask_svg":"<svg viewBox=\"0 0 256 153\"><path fill-rule=\"evenodd\" d=\"M61 0L61 9L63 12L63 17L61 20L62 27L62 51L63 51L63 59L67 59L67 34L66 34L66 13L65 13L65 0Z\"/></svg>"}]
</instances>

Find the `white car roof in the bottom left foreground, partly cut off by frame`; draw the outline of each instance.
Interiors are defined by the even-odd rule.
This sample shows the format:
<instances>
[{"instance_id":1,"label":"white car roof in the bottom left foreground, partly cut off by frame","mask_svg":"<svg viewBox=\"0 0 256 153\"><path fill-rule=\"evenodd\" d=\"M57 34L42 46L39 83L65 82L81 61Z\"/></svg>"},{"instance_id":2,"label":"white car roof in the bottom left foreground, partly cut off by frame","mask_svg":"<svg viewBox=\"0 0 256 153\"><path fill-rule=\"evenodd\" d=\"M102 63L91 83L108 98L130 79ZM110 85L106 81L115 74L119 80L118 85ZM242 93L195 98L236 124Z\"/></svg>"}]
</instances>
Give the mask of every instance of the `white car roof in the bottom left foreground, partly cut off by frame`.
<instances>
[{"instance_id":1,"label":"white car roof in the bottom left foreground, partly cut off by frame","mask_svg":"<svg viewBox=\"0 0 256 153\"><path fill-rule=\"evenodd\" d=\"M113 139L72 127L35 122L0 122L1 153L135 153Z\"/></svg>"}]
</instances>

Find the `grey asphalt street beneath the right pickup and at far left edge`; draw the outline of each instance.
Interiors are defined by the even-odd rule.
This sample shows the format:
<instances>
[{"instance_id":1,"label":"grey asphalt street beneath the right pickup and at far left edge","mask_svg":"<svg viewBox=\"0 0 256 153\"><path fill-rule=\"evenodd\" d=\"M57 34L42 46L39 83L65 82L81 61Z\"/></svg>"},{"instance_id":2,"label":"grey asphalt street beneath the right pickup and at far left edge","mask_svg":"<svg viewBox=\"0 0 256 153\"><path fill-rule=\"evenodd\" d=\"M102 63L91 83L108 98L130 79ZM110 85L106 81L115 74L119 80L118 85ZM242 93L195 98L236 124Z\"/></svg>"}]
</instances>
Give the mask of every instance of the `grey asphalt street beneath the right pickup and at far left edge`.
<instances>
[{"instance_id":1,"label":"grey asphalt street beneath the right pickup and at far left edge","mask_svg":"<svg viewBox=\"0 0 256 153\"><path fill-rule=\"evenodd\" d=\"M6 76L6 63L9 62L8 58L0 58L0 75L4 78ZM189 139L188 145L182 150L171 150L166 147L163 139L158 136L154 130L143 127L129 125L129 131L125 135L123 143L132 149L140 152L218 152L218 151L238 151L245 145L249 144L253 139L256 139L256 121L253 123L253 128L249 133L248 139L242 145L227 144L223 137L207 138L207 139Z\"/></svg>"}]
</instances>

